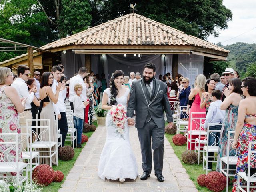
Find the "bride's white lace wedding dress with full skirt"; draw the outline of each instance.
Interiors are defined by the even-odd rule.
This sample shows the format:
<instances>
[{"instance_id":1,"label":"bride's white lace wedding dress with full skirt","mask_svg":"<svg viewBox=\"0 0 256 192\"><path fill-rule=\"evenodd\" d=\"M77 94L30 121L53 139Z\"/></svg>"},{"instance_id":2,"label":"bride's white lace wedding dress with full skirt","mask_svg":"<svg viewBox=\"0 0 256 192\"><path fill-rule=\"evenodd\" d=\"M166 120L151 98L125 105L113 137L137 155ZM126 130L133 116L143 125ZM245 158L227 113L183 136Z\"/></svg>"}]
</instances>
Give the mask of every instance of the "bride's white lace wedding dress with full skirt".
<instances>
[{"instance_id":1,"label":"bride's white lace wedding dress with full skirt","mask_svg":"<svg viewBox=\"0 0 256 192\"><path fill-rule=\"evenodd\" d=\"M110 103L110 89L104 90L104 93L108 94L108 102ZM127 89L123 96L116 98L118 104L127 107L127 96L129 93L130 90ZM100 156L98 167L98 176L101 179L136 179L138 176L138 167L130 145L127 121L124 127L124 134L121 138L120 134L116 133L116 127L112 123L110 112L108 112L106 117L106 142Z\"/></svg>"}]
</instances>

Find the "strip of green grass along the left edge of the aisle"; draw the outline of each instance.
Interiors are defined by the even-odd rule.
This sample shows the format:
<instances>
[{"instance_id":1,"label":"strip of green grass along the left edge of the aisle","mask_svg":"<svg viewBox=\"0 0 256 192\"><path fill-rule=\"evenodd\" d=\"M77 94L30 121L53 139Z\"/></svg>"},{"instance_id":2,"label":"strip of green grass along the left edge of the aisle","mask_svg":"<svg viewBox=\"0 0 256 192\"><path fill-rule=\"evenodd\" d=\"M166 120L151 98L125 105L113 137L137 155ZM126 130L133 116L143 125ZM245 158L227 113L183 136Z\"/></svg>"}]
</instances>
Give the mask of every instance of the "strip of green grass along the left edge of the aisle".
<instances>
[{"instance_id":1,"label":"strip of green grass along the left edge of the aisle","mask_svg":"<svg viewBox=\"0 0 256 192\"><path fill-rule=\"evenodd\" d=\"M94 125L98 126L97 122L93 122ZM93 132L90 131L88 133L84 133L84 135L87 135L88 138L90 139L90 136L92 136ZM70 142L65 142L65 145L71 145ZM52 182L50 185L45 186L43 188L43 192L57 192L58 189L60 188L60 186L63 184L63 182L66 180L66 176L68 175L68 173L70 172L71 168L74 166L76 159L78 158L80 152L82 151L82 149L84 148L84 146L86 145L86 143L82 144L82 148L75 148L75 155L74 158L70 161L62 161L62 160L58 160L59 165L58 166L52 166L52 168L56 171L62 171L64 174L64 179L62 180L62 182Z\"/></svg>"}]
</instances>

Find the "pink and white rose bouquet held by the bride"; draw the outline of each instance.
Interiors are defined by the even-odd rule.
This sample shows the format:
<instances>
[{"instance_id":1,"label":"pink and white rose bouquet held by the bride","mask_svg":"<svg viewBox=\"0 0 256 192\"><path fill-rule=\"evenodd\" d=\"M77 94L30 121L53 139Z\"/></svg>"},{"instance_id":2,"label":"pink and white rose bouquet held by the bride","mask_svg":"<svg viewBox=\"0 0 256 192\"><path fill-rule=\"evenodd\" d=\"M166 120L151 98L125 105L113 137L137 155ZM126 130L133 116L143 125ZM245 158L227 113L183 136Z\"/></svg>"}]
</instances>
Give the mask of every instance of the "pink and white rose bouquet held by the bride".
<instances>
[{"instance_id":1,"label":"pink and white rose bouquet held by the bride","mask_svg":"<svg viewBox=\"0 0 256 192\"><path fill-rule=\"evenodd\" d=\"M123 137L124 134L124 123L126 121L126 108L122 104L113 106L110 109L110 115L113 123L116 125L116 133Z\"/></svg>"}]
</instances>

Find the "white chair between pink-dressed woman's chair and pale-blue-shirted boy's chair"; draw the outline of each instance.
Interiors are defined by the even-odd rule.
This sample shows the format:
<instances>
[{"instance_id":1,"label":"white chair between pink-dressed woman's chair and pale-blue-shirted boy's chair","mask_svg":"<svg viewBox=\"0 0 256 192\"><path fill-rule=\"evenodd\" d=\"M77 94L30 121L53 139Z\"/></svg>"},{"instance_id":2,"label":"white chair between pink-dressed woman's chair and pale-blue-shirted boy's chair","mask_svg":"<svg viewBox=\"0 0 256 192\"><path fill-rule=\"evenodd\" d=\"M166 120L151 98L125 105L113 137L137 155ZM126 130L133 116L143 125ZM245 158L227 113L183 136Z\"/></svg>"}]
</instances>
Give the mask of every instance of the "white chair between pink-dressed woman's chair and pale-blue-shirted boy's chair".
<instances>
[{"instance_id":1,"label":"white chair between pink-dressed woman's chair and pale-blue-shirted boy's chair","mask_svg":"<svg viewBox=\"0 0 256 192\"><path fill-rule=\"evenodd\" d=\"M206 118L199 118L199 127L204 127L205 119ZM200 163L200 153L203 152L203 148L204 148L204 146L202 145L205 145L207 143L206 137L203 138L203 136L206 136L206 133L199 131L199 136L198 138L195 139L195 152L198 152L198 162L197 162L198 165Z\"/></svg>"}]
</instances>

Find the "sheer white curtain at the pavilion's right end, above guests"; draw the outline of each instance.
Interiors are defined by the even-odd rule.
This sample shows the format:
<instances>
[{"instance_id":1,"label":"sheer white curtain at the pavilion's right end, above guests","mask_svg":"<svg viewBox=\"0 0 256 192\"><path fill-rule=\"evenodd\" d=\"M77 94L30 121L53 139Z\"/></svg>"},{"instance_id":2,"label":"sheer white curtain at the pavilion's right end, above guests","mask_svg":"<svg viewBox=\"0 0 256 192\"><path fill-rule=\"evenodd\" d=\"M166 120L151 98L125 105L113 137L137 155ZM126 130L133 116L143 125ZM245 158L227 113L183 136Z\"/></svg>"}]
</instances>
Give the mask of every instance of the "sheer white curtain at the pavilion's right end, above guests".
<instances>
[{"instance_id":1,"label":"sheer white curtain at the pavilion's right end, above guests","mask_svg":"<svg viewBox=\"0 0 256 192\"><path fill-rule=\"evenodd\" d=\"M204 56L195 54L179 54L178 73L190 80L190 86L195 83L196 76L203 74Z\"/></svg>"}]
</instances>

